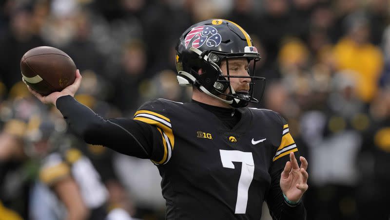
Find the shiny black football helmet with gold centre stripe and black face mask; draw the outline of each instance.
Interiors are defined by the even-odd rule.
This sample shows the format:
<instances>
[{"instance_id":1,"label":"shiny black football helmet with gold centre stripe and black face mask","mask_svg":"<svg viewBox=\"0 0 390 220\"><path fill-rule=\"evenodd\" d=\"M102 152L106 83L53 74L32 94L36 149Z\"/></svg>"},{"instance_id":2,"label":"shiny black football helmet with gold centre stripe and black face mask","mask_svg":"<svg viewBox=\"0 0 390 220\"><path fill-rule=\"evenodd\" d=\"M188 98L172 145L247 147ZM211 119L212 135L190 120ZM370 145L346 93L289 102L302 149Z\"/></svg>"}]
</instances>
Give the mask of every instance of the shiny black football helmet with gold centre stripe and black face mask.
<instances>
[{"instance_id":1,"label":"shiny black football helmet with gold centre stripe and black face mask","mask_svg":"<svg viewBox=\"0 0 390 220\"><path fill-rule=\"evenodd\" d=\"M252 71L248 75L229 75L230 58L247 58ZM227 74L221 71L221 61L226 60ZM177 81L180 86L195 86L201 92L230 104L234 108L258 103L265 86L265 78L254 76L255 63L260 60L252 39L236 23L224 19L209 19L188 28L176 44ZM253 66L251 61L253 61ZM202 74L198 74L202 69ZM230 78L251 78L249 92L235 92ZM263 81L261 96L253 97L254 84ZM229 92L226 92L229 88ZM226 95L226 99L218 95Z\"/></svg>"}]
</instances>

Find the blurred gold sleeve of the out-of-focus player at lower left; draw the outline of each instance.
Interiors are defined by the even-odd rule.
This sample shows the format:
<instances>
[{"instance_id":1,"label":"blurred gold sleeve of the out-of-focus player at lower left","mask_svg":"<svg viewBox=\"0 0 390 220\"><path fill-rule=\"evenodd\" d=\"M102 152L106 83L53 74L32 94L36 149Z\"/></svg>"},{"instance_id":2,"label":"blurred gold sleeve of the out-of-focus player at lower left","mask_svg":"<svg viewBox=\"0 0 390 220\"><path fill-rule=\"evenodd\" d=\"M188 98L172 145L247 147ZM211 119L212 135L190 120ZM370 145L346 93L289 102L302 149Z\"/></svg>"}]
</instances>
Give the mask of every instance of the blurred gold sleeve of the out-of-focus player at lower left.
<instances>
[{"instance_id":1,"label":"blurred gold sleeve of the out-of-focus player at lower left","mask_svg":"<svg viewBox=\"0 0 390 220\"><path fill-rule=\"evenodd\" d=\"M58 153L50 154L43 160L39 170L39 179L49 186L71 175L69 165L64 162Z\"/></svg>"}]
</instances>

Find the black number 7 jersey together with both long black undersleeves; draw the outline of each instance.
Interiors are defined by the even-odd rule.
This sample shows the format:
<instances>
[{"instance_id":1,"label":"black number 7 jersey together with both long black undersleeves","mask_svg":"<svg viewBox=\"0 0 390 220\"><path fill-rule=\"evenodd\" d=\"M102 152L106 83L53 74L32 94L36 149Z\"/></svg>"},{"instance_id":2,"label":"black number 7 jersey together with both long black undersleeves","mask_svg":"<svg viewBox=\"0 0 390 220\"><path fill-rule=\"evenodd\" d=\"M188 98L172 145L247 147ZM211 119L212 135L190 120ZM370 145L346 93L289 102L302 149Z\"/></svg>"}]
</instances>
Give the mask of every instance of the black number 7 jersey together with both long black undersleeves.
<instances>
[{"instance_id":1,"label":"black number 7 jersey together with both long black undersleeves","mask_svg":"<svg viewBox=\"0 0 390 220\"><path fill-rule=\"evenodd\" d=\"M298 149L274 111L237 109L231 128L197 103L164 99L145 103L134 119L103 119L71 96L57 108L87 143L157 165L168 220L258 220L264 201L274 220L306 219L303 204L289 206L280 189L288 154Z\"/></svg>"}]
</instances>

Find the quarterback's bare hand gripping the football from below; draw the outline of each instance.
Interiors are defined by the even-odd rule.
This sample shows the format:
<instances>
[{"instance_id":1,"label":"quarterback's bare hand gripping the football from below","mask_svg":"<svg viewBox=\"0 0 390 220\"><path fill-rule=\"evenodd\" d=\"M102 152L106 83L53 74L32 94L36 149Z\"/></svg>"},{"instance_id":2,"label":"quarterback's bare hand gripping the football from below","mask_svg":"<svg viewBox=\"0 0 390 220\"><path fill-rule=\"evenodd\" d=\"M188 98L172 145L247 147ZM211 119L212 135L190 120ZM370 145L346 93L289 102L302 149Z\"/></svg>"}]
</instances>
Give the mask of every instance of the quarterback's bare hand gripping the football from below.
<instances>
[{"instance_id":1,"label":"quarterback's bare hand gripping the football from below","mask_svg":"<svg viewBox=\"0 0 390 220\"><path fill-rule=\"evenodd\" d=\"M80 87L81 83L81 74L79 70L76 70L76 79L75 82L72 85L69 85L65 89L63 89L61 92L53 92L51 94L48 94L46 96L43 96L39 94L38 92L34 91L31 89L29 86L27 86L28 90L33 94L35 97L39 99L44 104L53 104L56 106L57 99L61 96L65 95L71 95L74 96L75 93L77 92L78 88Z\"/></svg>"}]
</instances>

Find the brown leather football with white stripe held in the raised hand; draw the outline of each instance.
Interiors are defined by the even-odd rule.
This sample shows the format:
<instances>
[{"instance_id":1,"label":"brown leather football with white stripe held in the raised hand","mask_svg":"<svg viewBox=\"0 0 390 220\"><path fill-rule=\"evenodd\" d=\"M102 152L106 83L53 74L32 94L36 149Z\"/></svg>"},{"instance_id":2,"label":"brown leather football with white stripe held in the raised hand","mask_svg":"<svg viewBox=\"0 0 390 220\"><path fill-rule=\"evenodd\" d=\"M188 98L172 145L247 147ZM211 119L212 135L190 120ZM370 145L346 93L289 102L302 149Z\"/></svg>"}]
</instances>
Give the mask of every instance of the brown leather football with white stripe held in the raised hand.
<instances>
[{"instance_id":1,"label":"brown leather football with white stripe held in the raised hand","mask_svg":"<svg viewBox=\"0 0 390 220\"><path fill-rule=\"evenodd\" d=\"M42 95L60 92L76 78L72 58L54 47L36 47L20 59L22 80Z\"/></svg>"}]
</instances>

